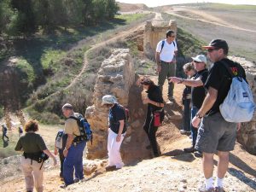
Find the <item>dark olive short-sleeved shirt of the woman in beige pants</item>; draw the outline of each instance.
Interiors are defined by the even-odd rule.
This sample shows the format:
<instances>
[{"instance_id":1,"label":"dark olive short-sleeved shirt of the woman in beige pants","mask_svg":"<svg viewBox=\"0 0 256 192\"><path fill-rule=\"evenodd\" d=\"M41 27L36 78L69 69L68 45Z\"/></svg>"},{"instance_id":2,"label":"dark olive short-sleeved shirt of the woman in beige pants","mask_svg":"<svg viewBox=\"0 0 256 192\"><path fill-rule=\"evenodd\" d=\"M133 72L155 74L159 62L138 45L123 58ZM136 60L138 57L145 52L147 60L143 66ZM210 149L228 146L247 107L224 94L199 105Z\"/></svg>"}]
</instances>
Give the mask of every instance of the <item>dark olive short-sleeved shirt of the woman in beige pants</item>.
<instances>
[{"instance_id":1,"label":"dark olive short-sleeved shirt of the woman in beige pants","mask_svg":"<svg viewBox=\"0 0 256 192\"><path fill-rule=\"evenodd\" d=\"M23 150L25 153L38 153L44 151L46 145L43 137L34 132L27 132L24 136L21 136L16 144L15 150Z\"/></svg>"}]
</instances>

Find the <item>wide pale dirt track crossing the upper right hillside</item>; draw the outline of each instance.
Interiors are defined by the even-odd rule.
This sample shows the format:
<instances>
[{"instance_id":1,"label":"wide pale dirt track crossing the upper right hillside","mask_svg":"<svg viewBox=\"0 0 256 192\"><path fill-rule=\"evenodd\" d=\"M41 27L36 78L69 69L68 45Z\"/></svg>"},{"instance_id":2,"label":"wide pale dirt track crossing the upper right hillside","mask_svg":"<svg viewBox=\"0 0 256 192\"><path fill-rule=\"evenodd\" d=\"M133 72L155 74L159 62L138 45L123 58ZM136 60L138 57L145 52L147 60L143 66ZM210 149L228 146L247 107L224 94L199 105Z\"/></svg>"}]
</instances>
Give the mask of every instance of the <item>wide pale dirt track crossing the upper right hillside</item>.
<instances>
[{"instance_id":1,"label":"wide pale dirt track crossing the upper right hillside","mask_svg":"<svg viewBox=\"0 0 256 192\"><path fill-rule=\"evenodd\" d=\"M192 16L184 16L179 14L179 12L187 12L193 15L197 15L199 16L199 18L193 18ZM241 31L245 31L245 32L256 32L250 29L246 29L246 28L242 28L240 26L235 26L225 20L222 20L221 18L218 18L216 16L213 15L209 15L207 14L205 11L201 11L201 10L196 10L196 9L186 9L186 8L181 8L181 7L173 7L172 10L166 11L167 14L170 15L174 15L177 17L181 17L183 19L187 19L187 20L198 20L201 22L206 22L209 24L213 24L215 26L225 26L225 27L229 27L231 29L236 29L236 30L241 30Z\"/></svg>"}]
</instances>

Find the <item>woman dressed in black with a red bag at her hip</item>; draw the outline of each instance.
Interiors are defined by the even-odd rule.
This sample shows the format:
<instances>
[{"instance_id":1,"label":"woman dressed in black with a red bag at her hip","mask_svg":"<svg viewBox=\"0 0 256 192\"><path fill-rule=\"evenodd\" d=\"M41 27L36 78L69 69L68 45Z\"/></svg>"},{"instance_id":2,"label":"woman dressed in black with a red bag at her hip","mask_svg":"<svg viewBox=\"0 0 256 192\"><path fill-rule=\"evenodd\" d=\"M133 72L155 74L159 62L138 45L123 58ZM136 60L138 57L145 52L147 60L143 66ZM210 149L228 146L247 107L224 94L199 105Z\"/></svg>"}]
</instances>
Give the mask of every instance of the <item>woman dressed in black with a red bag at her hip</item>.
<instances>
[{"instance_id":1,"label":"woman dressed in black with a red bag at her hip","mask_svg":"<svg viewBox=\"0 0 256 192\"><path fill-rule=\"evenodd\" d=\"M151 146L148 146L147 148L151 147L154 156L157 157L159 156L159 152L157 149L155 133L165 116L163 110L164 100L160 87L155 85L151 79L143 77L140 84L143 84L143 89L148 93L148 96L143 99L143 104L148 104L147 117L143 125L143 129L146 131L151 144Z\"/></svg>"}]
</instances>

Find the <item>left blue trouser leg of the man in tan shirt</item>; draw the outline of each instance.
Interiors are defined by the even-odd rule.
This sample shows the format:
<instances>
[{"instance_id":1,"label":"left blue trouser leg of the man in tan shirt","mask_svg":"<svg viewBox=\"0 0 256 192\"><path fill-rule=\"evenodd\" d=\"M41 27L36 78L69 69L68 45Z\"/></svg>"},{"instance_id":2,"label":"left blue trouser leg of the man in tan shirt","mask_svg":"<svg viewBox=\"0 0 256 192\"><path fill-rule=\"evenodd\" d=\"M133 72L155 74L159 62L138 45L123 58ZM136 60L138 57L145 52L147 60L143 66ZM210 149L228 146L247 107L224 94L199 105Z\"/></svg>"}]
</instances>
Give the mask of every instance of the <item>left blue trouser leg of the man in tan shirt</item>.
<instances>
[{"instance_id":1,"label":"left blue trouser leg of the man in tan shirt","mask_svg":"<svg viewBox=\"0 0 256 192\"><path fill-rule=\"evenodd\" d=\"M67 157L63 164L63 178L66 185L73 183L73 166L76 161L76 148L72 145L68 149Z\"/></svg>"}]
</instances>

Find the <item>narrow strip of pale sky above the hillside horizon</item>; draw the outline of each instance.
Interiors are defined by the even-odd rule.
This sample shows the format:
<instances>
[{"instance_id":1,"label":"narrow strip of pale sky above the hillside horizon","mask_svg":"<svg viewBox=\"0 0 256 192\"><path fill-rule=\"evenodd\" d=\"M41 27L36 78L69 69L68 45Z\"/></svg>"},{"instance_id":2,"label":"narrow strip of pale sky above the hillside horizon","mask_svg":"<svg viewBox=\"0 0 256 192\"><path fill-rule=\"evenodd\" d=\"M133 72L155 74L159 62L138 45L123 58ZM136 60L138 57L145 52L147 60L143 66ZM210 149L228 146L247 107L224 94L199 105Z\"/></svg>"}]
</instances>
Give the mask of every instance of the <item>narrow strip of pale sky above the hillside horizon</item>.
<instances>
[{"instance_id":1,"label":"narrow strip of pale sky above the hillside horizon","mask_svg":"<svg viewBox=\"0 0 256 192\"><path fill-rule=\"evenodd\" d=\"M166 4L177 3L228 3L228 4L253 4L256 5L256 0L116 0L116 2L122 3L144 3L148 7L156 7Z\"/></svg>"}]
</instances>

